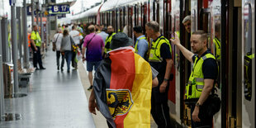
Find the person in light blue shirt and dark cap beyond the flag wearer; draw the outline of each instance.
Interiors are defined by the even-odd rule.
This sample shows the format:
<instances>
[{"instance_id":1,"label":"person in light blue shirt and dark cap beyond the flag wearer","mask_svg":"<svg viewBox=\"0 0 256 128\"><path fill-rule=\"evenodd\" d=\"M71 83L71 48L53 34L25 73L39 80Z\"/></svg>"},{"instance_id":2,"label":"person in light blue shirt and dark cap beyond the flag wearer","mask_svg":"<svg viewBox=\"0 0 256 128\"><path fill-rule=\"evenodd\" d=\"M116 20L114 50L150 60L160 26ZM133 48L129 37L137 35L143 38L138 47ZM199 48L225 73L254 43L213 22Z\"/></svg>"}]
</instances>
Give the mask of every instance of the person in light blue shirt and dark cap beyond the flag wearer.
<instances>
[{"instance_id":1,"label":"person in light blue shirt and dark cap beyond the flag wearer","mask_svg":"<svg viewBox=\"0 0 256 128\"><path fill-rule=\"evenodd\" d=\"M147 51L149 50L149 42L147 41L145 35L142 34L142 27L135 26L133 28L133 34L136 37L135 53L147 60L148 58L146 56Z\"/></svg>"}]
</instances>

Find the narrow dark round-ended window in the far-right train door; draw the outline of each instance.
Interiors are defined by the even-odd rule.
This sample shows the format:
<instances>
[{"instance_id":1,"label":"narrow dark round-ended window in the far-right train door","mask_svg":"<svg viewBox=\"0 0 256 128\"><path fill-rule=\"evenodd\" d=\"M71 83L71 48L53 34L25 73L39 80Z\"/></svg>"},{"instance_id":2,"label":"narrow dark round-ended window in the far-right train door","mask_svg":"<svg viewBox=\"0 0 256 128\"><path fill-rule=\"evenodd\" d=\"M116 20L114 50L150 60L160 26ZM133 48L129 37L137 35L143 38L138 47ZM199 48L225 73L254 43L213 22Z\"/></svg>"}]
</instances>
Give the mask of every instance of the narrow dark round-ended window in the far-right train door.
<instances>
[{"instance_id":1,"label":"narrow dark round-ended window in the far-right train door","mask_svg":"<svg viewBox=\"0 0 256 128\"><path fill-rule=\"evenodd\" d=\"M252 99L252 59L254 54L251 52L244 56L244 97L249 101Z\"/></svg>"}]
</instances>

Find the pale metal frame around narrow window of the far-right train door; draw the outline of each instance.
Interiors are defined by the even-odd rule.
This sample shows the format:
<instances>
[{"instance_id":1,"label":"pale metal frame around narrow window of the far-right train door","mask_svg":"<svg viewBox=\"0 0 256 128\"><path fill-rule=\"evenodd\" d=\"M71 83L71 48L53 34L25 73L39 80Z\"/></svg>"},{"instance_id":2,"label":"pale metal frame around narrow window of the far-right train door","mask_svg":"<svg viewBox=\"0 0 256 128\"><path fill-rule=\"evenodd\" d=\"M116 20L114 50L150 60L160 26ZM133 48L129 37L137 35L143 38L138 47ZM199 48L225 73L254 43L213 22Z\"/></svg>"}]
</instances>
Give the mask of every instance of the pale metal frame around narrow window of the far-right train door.
<instances>
[{"instance_id":1,"label":"pale metal frame around narrow window of the far-right train door","mask_svg":"<svg viewBox=\"0 0 256 128\"><path fill-rule=\"evenodd\" d=\"M246 7L248 6L248 7ZM245 9L248 8L248 14L245 13ZM248 17L245 17L248 15ZM245 25L246 24L246 25ZM246 27L248 26L248 27ZM246 50L251 45L251 53L255 55L255 0L243 0L242 1L242 126L243 127L255 127L255 58L252 59L252 82L251 82L251 99L245 98L244 88L245 86L245 55ZM249 39L247 37L249 37ZM247 44L249 43L249 44ZM254 88L254 89L253 89ZM247 88L249 89L249 88ZM253 107L252 107L253 106ZM253 112L254 111L254 112Z\"/></svg>"}]
</instances>

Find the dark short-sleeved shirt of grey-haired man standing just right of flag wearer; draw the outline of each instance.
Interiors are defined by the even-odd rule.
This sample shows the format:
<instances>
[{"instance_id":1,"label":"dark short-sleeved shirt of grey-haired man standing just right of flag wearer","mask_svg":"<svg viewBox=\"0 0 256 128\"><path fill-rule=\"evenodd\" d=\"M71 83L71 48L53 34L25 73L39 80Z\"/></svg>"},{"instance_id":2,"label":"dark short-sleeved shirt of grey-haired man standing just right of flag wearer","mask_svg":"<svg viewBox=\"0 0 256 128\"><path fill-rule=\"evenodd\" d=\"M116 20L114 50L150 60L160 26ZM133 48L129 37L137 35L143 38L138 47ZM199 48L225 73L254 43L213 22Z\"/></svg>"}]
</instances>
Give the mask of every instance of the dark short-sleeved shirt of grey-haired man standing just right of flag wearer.
<instances>
[{"instance_id":1,"label":"dark short-sleeved shirt of grey-haired man standing just right of flag wearer","mask_svg":"<svg viewBox=\"0 0 256 128\"><path fill-rule=\"evenodd\" d=\"M159 36L159 37L161 37L161 36ZM158 40L158 39L159 38L157 38L156 40ZM159 72L158 77L164 77L165 70L166 70L166 64L167 64L165 59L172 59L169 45L167 45L166 43L163 43L161 45L160 55L163 58L162 62L149 62L149 64Z\"/></svg>"}]
</instances>

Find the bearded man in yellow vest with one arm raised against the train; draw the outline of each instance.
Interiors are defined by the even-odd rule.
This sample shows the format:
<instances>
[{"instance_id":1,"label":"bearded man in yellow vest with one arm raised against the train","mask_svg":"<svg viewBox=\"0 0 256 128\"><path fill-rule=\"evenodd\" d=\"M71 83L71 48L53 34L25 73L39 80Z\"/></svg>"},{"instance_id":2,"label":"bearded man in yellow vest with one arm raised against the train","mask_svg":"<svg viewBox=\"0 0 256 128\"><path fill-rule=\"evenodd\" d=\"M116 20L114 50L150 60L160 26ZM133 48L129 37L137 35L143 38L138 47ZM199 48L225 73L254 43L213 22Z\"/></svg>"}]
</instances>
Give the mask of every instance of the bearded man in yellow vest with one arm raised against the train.
<instances>
[{"instance_id":1,"label":"bearded man in yellow vest with one arm raised against the train","mask_svg":"<svg viewBox=\"0 0 256 128\"><path fill-rule=\"evenodd\" d=\"M177 34L175 34L174 40L170 39L182 51L186 59L193 63L192 73L185 92L185 102L191 107L192 112L192 128L212 127L212 116L202 117L204 113L199 114L200 107L214 88L218 75L216 58L211 54L211 50L207 50L207 39L205 31L192 33L190 41L194 53L180 44Z\"/></svg>"}]
</instances>

